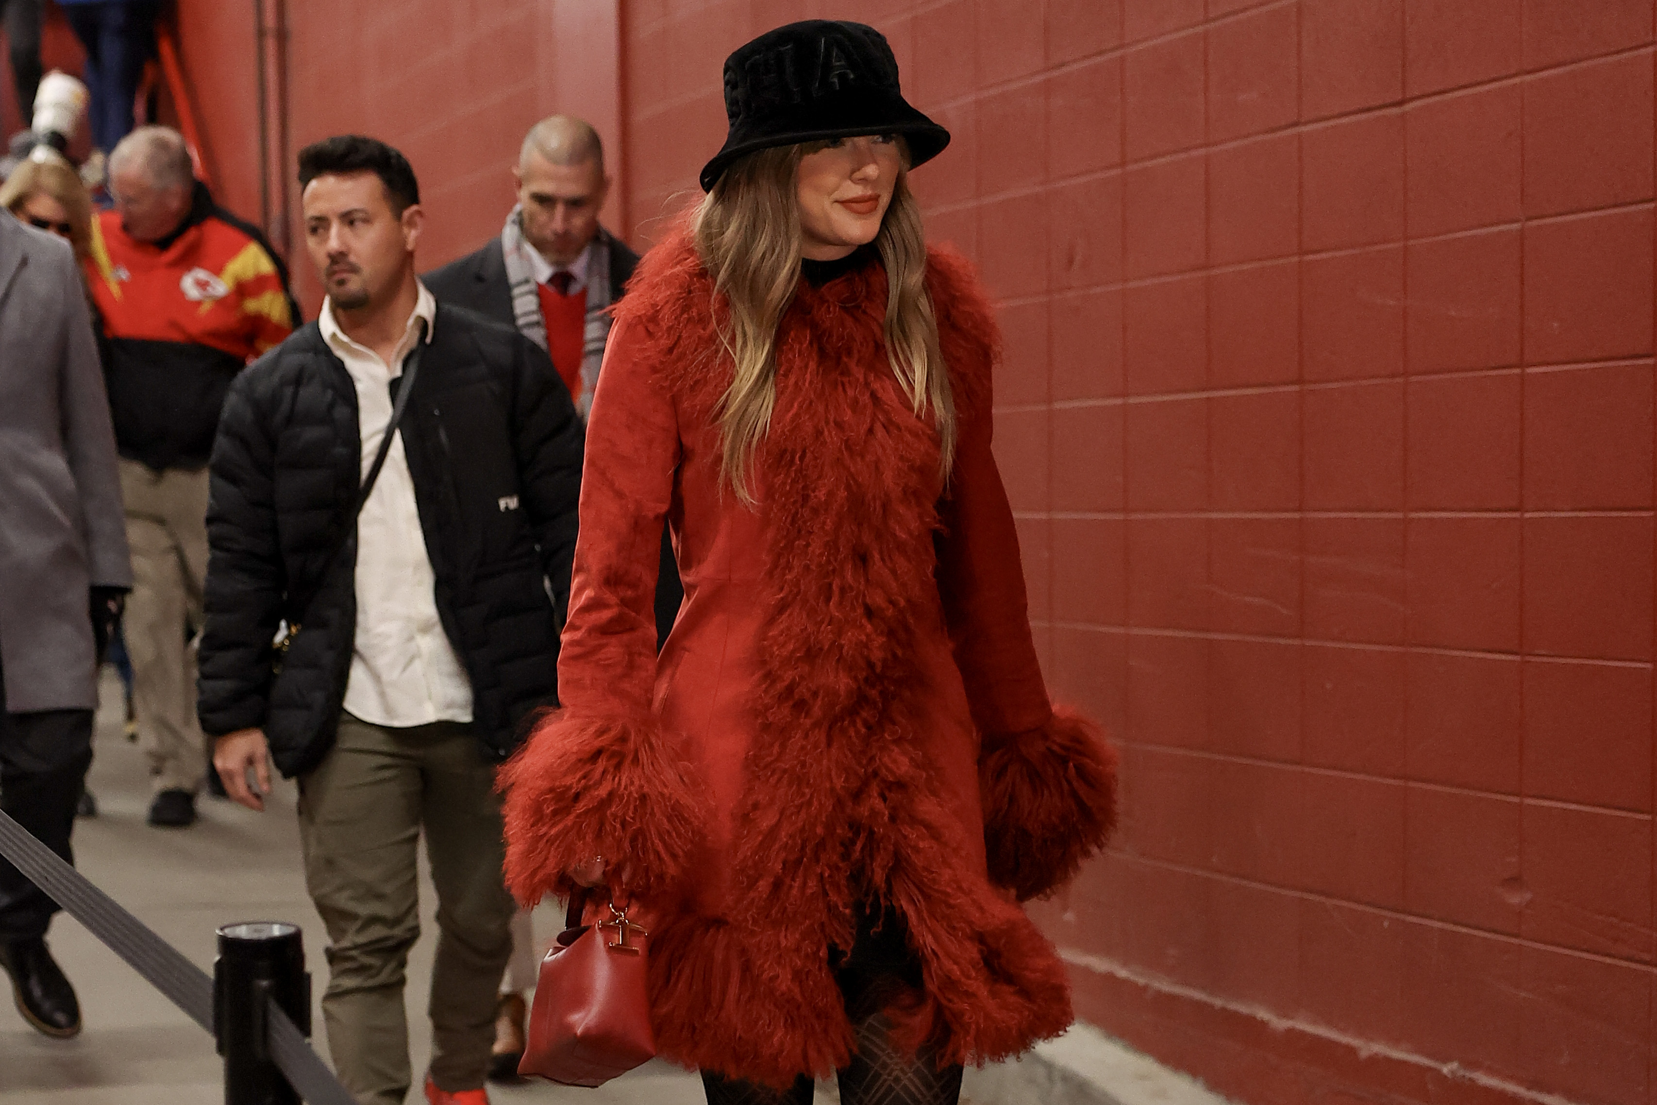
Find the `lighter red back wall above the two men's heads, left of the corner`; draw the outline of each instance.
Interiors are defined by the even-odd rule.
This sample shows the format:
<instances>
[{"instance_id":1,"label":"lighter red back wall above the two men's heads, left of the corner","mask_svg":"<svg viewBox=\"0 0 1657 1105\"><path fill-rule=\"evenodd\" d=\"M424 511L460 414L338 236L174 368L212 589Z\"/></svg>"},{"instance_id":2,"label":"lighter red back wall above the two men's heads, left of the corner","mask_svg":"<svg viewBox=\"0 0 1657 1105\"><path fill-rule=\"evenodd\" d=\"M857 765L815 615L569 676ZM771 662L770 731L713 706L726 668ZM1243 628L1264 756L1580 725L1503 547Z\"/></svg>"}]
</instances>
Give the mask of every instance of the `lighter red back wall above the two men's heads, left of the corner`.
<instances>
[{"instance_id":1,"label":"lighter red back wall above the two men's heads, left of the corner","mask_svg":"<svg viewBox=\"0 0 1657 1105\"><path fill-rule=\"evenodd\" d=\"M278 0L267 0L275 10ZM590 119L621 167L616 119L616 13L592 0L285 0L290 262L307 316L321 302L298 232L295 154L358 133L401 149L428 212L423 267L500 234L510 167L537 119ZM252 0L179 0L181 53L220 192L258 217L258 116ZM273 20L273 17L272 17ZM272 83L273 89L273 83ZM620 191L620 189L618 189ZM275 189L272 189L275 195ZM620 204L605 209L615 224Z\"/></svg>"}]
</instances>

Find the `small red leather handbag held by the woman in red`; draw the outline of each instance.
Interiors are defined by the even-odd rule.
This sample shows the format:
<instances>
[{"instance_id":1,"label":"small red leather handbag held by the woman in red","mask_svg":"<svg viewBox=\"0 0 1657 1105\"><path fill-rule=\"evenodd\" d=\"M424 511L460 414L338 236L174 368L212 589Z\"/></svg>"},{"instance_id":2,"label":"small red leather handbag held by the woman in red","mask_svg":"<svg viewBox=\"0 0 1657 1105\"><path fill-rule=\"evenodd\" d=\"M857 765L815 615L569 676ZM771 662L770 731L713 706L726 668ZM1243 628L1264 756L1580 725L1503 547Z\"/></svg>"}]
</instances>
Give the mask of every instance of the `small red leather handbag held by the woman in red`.
<instances>
[{"instance_id":1,"label":"small red leather handbag held by the woman in red","mask_svg":"<svg viewBox=\"0 0 1657 1105\"><path fill-rule=\"evenodd\" d=\"M603 1085L656 1055L645 986L650 933L610 905L582 924L587 890L570 895L558 941L540 961L519 1074L563 1085Z\"/></svg>"}]
</instances>

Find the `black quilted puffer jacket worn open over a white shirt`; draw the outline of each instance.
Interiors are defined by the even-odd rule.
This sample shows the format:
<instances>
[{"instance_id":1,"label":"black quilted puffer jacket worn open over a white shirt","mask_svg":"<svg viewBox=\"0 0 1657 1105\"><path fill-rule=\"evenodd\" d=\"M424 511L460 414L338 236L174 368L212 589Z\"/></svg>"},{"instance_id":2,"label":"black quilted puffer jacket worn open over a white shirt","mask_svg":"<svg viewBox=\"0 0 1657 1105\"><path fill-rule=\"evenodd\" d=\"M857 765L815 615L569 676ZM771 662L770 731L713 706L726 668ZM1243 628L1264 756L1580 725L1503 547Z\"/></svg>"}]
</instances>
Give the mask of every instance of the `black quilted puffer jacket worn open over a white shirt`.
<instances>
[{"instance_id":1,"label":"black quilted puffer jacket worn open over a white shirt","mask_svg":"<svg viewBox=\"0 0 1657 1105\"><path fill-rule=\"evenodd\" d=\"M515 330L439 303L399 426L414 479L437 613L472 683L472 719L492 759L517 722L557 696L558 618L568 588L582 424L552 361ZM315 323L230 386L214 442L207 509L202 727L262 726L283 775L333 742L356 635L361 467L356 391ZM272 676L278 623L298 623Z\"/></svg>"}]
</instances>

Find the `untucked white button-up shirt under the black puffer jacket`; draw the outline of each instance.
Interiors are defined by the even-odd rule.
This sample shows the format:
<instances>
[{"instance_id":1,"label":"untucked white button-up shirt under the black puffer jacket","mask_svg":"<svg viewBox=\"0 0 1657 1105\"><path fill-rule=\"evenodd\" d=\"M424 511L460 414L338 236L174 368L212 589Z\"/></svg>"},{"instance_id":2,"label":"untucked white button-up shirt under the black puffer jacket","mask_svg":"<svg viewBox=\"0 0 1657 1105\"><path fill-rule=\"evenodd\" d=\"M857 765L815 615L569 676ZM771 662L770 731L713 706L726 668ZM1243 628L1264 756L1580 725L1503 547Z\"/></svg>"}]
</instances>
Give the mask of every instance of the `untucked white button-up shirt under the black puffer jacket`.
<instances>
[{"instance_id":1,"label":"untucked white button-up shirt under the black puffer jacket","mask_svg":"<svg viewBox=\"0 0 1657 1105\"><path fill-rule=\"evenodd\" d=\"M386 364L378 353L345 336L333 318L333 303L323 300L316 320L321 336L356 384L361 477L373 467L379 439L391 424L391 378L403 374L421 320L431 343L436 316L437 300L421 285L403 341ZM345 684L345 709L353 716L393 729L472 719L472 684L437 620L432 586L399 429L356 519L356 643Z\"/></svg>"}]
</instances>

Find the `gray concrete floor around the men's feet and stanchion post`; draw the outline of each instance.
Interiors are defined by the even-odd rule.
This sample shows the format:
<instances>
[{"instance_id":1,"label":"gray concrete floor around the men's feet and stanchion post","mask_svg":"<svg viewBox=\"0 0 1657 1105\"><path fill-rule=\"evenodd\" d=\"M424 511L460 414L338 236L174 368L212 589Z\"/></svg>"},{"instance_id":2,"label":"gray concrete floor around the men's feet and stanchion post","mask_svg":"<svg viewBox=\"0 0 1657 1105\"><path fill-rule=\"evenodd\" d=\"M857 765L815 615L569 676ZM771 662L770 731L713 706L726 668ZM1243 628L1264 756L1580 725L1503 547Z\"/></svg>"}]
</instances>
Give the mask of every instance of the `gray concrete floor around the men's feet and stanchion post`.
<instances>
[{"instance_id":1,"label":"gray concrete floor around the men's feet and stanchion post","mask_svg":"<svg viewBox=\"0 0 1657 1105\"><path fill-rule=\"evenodd\" d=\"M149 828L149 780L136 746L121 736L119 684L109 676L103 689L106 709L98 717L88 779L99 815L76 823L80 870L209 972L220 924L293 921L305 931L313 992L320 996L325 936L300 875L293 785L282 784L265 813L204 797L192 828ZM409 963L409 1045L418 1072L411 1103L424 1102L418 1082L431 1044L424 1009L436 923L424 871L421 898L423 938ZM548 939L560 924L562 916L542 910L537 936ZM210 1035L68 914L58 914L48 939L75 982L86 1027L73 1040L40 1035L0 989L0 1105L222 1105L222 1069ZM326 1057L320 1012L315 1024L315 1045ZM490 1087L489 1093L500 1105L703 1102L701 1082L666 1064L650 1064L598 1090L537 1083Z\"/></svg>"}]
</instances>

